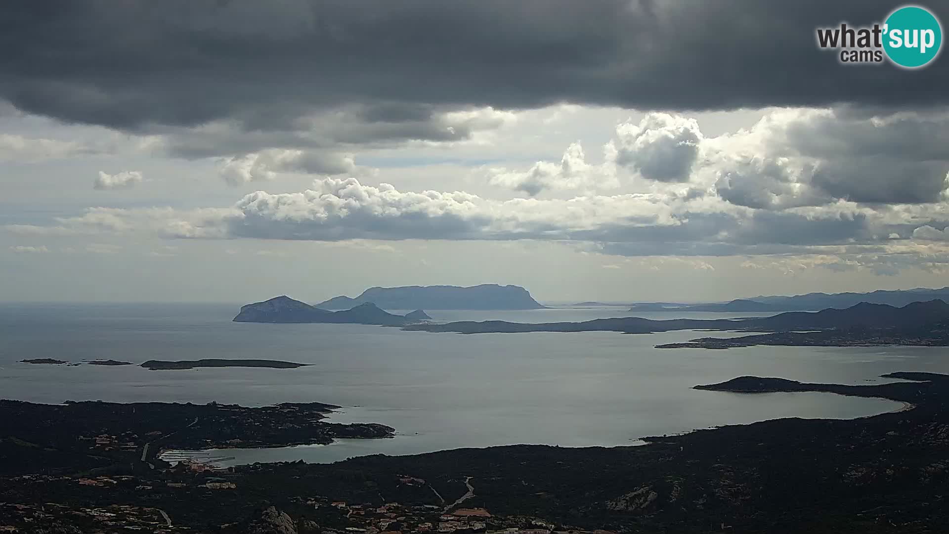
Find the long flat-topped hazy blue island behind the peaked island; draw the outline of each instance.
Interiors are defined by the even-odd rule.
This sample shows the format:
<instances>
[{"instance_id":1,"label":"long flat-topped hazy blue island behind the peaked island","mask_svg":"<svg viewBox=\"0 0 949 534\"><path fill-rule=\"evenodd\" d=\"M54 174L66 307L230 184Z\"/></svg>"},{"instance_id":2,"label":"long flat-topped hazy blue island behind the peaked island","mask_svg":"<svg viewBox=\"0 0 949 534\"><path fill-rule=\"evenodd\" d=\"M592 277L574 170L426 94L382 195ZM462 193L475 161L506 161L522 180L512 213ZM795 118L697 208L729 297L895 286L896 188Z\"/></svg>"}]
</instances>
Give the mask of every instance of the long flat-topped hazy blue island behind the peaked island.
<instances>
[{"instance_id":1,"label":"long flat-topped hazy blue island behind the peaked island","mask_svg":"<svg viewBox=\"0 0 949 534\"><path fill-rule=\"evenodd\" d=\"M334 296L316 305L324 310L348 310L372 302L385 310L536 310L545 308L520 286L481 284L459 286L371 287L356 298Z\"/></svg>"}]
</instances>

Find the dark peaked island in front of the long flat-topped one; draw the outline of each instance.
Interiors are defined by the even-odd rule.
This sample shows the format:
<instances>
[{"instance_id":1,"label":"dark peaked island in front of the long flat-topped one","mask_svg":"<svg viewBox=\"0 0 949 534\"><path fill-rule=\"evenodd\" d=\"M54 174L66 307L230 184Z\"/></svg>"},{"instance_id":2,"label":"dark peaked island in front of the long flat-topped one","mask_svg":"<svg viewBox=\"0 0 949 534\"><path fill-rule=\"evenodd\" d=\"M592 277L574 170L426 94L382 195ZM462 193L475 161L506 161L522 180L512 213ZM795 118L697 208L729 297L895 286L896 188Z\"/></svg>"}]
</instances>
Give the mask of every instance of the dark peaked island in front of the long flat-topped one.
<instances>
[{"instance_id":1,"label":"dark peaked island in front of the long flat-topped one","mask_svg":"<svg viewBox=\"0 0 949 534\"><path fill-rule=\"evenodd\" d=\"M421 310L416 310L410 315L413 316L390 314L381 310L372 302L364 302L363 304L340 312L330 312L284 295L274 296L269 300L242 306L240 313L233 318L233 321L248 323L353 323L403 326L417 322L422 318L421 315L425 315L425 313Z\"/></svg>"}]
</instances>

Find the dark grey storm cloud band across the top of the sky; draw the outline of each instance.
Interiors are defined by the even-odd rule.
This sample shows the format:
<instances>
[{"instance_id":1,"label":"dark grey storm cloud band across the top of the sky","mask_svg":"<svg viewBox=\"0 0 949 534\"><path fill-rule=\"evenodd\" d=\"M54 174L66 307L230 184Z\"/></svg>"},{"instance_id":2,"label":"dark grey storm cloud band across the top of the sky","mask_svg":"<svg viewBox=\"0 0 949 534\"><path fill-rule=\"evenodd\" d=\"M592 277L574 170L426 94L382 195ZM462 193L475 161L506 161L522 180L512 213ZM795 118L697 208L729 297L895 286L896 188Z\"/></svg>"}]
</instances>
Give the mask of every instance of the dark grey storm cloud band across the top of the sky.
<instances>
[{"instance_id":1,"label":"dark grey storm cloud band across the top of the sky","mask_svg":"<svg viewBox=\"0 0 949 534\"><path fill-rule=\"evenodd\" d=\"M949 20L949 8L930 4ZM0 98L127 130L222 119L294 129L302 115L352 103L370 105L365 119L383 124L470 105L946 104L944 58L919 71L842 67L816 49L815 27L868 24L893 8L883 0L14 0L0 7Z\"/></svg>"}]
</instances>

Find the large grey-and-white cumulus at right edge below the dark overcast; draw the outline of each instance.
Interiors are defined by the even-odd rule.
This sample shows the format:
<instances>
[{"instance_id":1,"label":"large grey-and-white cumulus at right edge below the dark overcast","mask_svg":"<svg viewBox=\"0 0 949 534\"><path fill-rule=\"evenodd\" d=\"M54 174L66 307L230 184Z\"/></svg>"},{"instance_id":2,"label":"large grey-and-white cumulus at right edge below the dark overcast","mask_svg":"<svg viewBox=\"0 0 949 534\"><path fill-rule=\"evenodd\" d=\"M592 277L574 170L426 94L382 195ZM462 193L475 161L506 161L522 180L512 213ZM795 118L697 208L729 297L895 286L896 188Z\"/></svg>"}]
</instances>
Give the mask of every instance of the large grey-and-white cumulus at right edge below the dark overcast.
<instances>
[{"instance_id":1,"label":"large grey-and-white cumulus at right edge below the dark overcast","mask_svg":"<svg viewBox=\"0 0 949 534\"><path fill-rule=\"evenodd\" d=\"M880 112L877 109L877 112ZM949 198L945 107L865 115L852 107L784 110L708 150L716 193L760 209L933 203ZM720 141L720 140L718 140Z\"/></svg>"}]
</instances>

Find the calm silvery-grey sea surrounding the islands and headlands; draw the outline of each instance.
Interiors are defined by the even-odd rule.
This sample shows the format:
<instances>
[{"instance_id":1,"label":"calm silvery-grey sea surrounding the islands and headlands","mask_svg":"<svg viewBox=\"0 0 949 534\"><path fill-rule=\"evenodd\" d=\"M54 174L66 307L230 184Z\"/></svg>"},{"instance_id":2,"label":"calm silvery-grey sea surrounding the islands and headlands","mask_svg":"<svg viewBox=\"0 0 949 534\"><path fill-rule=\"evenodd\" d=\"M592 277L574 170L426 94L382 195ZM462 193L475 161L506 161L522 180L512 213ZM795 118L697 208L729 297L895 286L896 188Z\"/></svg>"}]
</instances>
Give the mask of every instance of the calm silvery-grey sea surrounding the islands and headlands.
<instances>
[{"instance_id":1,"label":"calm silvery-grey sea surrounding the islands and headlands","mask_svg":"<svg viewBox=\"0 0 949 534\"><path fill-rule=\"evenodd\" d=\"M210 452L229 458L221 465L327 463L366 454L512 444L637 445L643 436L781 417L864 417L902 405L832 393L739 394L692 387L747 374L875 384L886 381L880 377L886 372L949 372L946 348L655 349L658 344L710 334L433 334L365 325L234 323L231 319L239 307L0 304L0 398L40 403L216 401L244 406L316 401L343 407L328 421L381 423L397 430L392 439ZM625 308L570 306L427 312L437 321L549 322L631 315ZM19 363L25 358L136 364L149 359L262 358L311 365L148 371L138 366Z\"/></svg>"}]
</instances>

